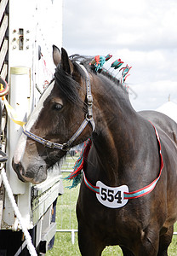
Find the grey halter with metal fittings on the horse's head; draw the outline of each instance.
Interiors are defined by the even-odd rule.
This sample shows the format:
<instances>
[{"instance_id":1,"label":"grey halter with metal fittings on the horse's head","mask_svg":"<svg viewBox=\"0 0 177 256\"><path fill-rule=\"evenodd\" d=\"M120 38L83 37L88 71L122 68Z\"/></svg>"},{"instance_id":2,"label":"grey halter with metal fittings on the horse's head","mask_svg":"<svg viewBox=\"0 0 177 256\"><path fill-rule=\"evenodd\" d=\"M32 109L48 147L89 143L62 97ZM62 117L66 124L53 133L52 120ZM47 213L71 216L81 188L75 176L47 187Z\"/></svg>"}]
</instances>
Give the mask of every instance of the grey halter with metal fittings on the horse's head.
<instances>
[{"instance_id":1,"label":"grey halter with metal fittings on the horse's head","mask_svg":"<svg viewBox=\"0 0 177 256\"><path fill-rule=\"evenodd\" d=\"M91 93L91 84L90 84L90 79L89 79L89 74L86 68L83 65L80 65L80 67L83 69L83 72L86 75L86 96L87 96L87 108L88 108L88 113L85 115L85 119L83 120L83 123L80 125L80 127L77 129L77 131L74 133L74 135L66 142L66 143L53 143L51 141L45 140L43 137L39 137L35 135L34 133L30 131L26 131L25 126L23 126L23 133L27 136L30 137L32 140L36 141L37 143L43 144L44 147L47 148L56 148L56 149L61 149L61 150L69 150L71 148L71 143L73 143L77 137L82 133L82 131L85 129L85 127L90 123L92 125L92 131L94 131L95 128L95 123L94 123L94 118L93 118L93 96Z\"/></svg>"}]
</instances>

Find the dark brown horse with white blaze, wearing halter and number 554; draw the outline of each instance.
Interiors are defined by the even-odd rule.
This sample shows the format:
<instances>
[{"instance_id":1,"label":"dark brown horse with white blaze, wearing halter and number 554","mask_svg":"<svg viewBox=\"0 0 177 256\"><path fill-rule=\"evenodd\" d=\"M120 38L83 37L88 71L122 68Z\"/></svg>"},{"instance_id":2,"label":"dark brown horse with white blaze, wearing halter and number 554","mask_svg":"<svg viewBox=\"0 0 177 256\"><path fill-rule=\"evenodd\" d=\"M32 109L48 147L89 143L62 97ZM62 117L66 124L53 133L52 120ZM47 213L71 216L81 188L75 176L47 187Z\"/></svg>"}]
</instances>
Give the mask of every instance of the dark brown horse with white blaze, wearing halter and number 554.
<instances>
[{"instance_id":1,"label":"dark brown horse with white blaze, wearing halter and number 554","mask_svg":"<svg viewBox=\"0 0 177 256\"><path fill-rule=\"evenodd\" d=\"M177 124L136 112L128 91L85 56L53 46L54 79L14 152L23 182L41 183L69 148L89 140L77 199L82 255L119 245L124 256L165 256L177 219Z\"/></svg>"}]
</instances>

